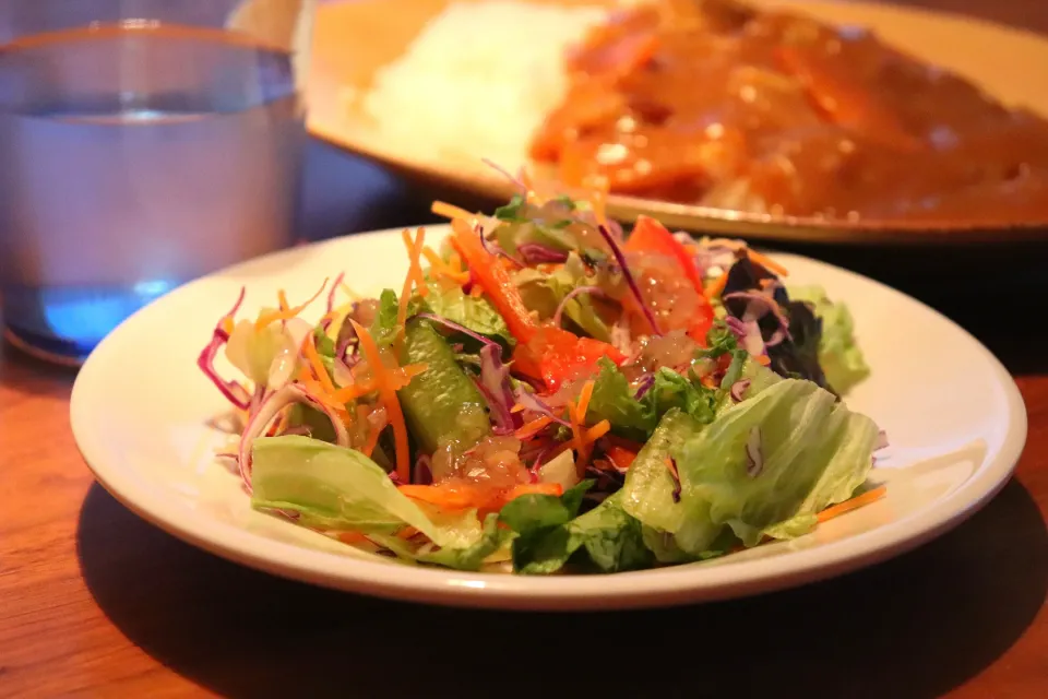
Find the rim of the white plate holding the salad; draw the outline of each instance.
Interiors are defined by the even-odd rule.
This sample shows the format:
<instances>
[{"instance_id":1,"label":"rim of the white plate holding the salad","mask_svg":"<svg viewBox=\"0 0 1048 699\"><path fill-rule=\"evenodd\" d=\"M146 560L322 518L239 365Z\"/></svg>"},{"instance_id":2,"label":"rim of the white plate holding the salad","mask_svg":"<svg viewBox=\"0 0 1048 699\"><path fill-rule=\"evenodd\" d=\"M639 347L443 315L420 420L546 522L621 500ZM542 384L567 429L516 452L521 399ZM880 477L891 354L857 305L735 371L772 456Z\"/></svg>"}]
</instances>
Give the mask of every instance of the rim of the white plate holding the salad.
<instances>
[{"instance_id":1,"label":"rim of the white plate holding the salad","mask_svg":"<svg viewBox=\"0 0 1048 699\"><path fill-rule=\"evenodd\" d=\"M448 226L427 226L427 229L434 233L439 230L442 235ZM123 321L88 356L70 396L73 438L98 483L124 507L167 533L219 557L283 578L358 594L455 607L624 609L713 602L772 592L836 577L901 555L941 535L978 511L1008 483L1025 448L1027 414L1022 394L1000 360L975 336L922 301L881 282L827 262L787 253L776 257L784 261L800 258L817 266L857 276L873 284L880 293L900 295L925 311L939 316L974 343L1003 392L1009 411L1008 428L992 459L980 464L973 476L945 497L930 507L895 520L892 525L877 526L818 547L716 567L692 564L605 576L529 577L462 572L310 549L275 541L231 523L194 517L193 509L187 503L165 498L163 491L155 490L147 478L115 464L106 457L105 448L91 430L96 418L90 401L97 387L105 384L106 375L98 374L102 363L109 353L120 355L121 337L129 332L129 327L141 322L140 319L146 313L159 312L157 309L172 303L170 299L177 298L176 295L189 288L206 286L217 279L236 276L245 268L272 264L281 258L315 254L325 247L338 247L350 239L360 239L356 245L366 245L368 238L394 236L400 230L397 227L350 234L260 256L189 282Z\"/></svg>"}]
</instances>

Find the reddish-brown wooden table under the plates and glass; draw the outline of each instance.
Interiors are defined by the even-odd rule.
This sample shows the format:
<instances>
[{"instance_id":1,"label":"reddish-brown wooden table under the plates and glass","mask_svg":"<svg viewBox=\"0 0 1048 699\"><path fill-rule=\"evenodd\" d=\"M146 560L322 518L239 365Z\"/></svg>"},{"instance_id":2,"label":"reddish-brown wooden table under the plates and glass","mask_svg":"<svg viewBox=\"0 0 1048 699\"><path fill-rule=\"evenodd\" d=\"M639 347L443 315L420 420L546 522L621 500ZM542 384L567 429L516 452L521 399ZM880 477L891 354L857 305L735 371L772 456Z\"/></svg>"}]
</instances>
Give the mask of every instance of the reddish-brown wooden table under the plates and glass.
<instances>
[{"instance_id":1,"label":"reddish-brown wooden table under the plates and glass","mask_svg":"<svg viewBox=\"0 0 1048 699\"><path fill-rule=\"evenodd\" d=\"M978 2L922 4L1048 29L1043 0ZM313 144L309 178L313 237L426 217L422 193L326 146ZM1016 376L1029 412L1016 477L968 522L888 564L662 612L410 606L201 553L94 483L67 417L74 375L4 347L0 696L1048 696L1045 286L996 299L1003 319L952 291L908 291Z\"/></svg>"}]
</instances>

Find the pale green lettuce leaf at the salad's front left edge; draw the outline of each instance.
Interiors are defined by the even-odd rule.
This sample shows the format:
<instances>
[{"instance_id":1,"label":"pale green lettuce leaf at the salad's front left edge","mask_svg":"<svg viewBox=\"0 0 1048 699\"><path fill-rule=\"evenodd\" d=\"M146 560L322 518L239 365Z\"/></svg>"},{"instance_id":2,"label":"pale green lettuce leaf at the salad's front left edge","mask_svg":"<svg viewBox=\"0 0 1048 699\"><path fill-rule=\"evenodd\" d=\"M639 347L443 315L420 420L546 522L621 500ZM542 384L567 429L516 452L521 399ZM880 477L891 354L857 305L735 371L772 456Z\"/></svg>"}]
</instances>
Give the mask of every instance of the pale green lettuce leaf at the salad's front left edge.
<instances>
[{"instance_id":1,"label":"pale green lettuce leaf at the salad's front left edge","mask_svg":"<svg viewBox=\"0 0 1048 699\"><path fill-rule=\"evenodd\" d=\"M392 534L414 526L437 546L467 548L481 537L476 513L427 514L358 451L300 437L255 440L251 505L297 512L317 529Z\"/></svg>"}]
</instances>

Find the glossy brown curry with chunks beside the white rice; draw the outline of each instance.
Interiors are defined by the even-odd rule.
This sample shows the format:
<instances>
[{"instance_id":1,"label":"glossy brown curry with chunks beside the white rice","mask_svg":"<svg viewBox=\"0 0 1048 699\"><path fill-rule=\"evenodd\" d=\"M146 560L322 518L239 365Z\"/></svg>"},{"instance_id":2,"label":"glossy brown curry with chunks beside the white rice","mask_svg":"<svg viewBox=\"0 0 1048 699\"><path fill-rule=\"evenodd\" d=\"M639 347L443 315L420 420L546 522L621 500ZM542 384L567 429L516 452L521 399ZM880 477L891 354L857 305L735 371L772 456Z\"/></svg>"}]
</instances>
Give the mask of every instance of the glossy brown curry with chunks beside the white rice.
<instances>
[{"instance_id":1,"label":"glossy brown curry with chunks beside the white rice","mask_svg":"<svg viewBox=\"0 0 1048 699\"><path fill-rule=\"evenodd\" d=\"M657 0L567 57L531 143L570 186L776 215L1048 221L1048 121L785 10Z\"/></svg>"}]
</instances>

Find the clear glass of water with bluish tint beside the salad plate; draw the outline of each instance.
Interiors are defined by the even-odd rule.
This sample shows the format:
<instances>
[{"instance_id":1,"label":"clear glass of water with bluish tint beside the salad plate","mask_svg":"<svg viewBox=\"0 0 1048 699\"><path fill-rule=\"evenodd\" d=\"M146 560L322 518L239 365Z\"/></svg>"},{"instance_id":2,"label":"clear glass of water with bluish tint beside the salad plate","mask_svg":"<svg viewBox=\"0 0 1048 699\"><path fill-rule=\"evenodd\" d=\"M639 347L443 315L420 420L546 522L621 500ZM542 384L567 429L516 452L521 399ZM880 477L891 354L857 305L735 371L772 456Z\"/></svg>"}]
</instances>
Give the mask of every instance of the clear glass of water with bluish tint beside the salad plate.
<instances>
[{"instance_id":1,"label":"clear glass of water with bluish tint beside the salad plate","mask_svg":"<svg viewBox=\"0 0 1048 699\"><path fill-rule=\"evenodd\" d=\"M295 241L312 5L0 0L9 341L76 364L175 286Z\"/></svg>"}]
</instances>

